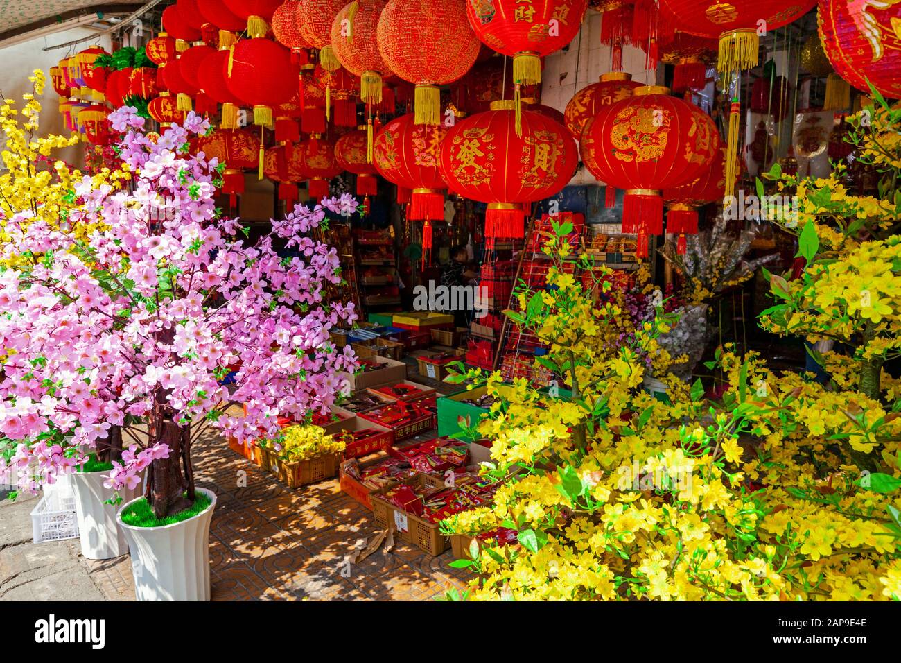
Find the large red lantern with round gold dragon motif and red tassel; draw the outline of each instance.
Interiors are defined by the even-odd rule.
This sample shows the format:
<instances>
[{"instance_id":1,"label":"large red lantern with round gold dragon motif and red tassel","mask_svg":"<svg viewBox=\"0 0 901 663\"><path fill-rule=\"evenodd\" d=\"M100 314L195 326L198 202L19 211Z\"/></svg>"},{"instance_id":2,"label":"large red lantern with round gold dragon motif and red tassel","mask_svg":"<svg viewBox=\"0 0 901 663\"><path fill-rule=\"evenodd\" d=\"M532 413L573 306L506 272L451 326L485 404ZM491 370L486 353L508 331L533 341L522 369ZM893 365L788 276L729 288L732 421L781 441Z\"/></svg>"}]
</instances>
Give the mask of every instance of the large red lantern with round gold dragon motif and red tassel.
<instances>
[{"instance_id":1,"label":"large red lantern with round gold dragon motif and red tassel","mask_svg":"<svg viewBox=\"0 0 901 663\"><path fill-rule=\"evenodd\" d=\"M713 121L660 86L636 87L632 97L604 106L580 143L588 171L625 189L623 233L638 235L639 257L648 254L648 235L663 232L660 190L694 180L719 147Z\"/></svg>"}]
</instances>

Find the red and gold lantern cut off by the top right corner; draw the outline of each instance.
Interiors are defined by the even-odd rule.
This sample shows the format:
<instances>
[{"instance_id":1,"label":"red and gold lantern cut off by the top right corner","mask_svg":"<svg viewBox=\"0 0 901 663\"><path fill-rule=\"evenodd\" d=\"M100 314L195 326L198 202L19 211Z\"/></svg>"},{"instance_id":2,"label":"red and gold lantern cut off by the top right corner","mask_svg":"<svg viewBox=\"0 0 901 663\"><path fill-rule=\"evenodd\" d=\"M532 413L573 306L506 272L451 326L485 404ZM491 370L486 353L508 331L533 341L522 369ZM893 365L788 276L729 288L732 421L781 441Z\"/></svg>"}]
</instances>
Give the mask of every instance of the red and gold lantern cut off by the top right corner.
<instances>
[{"instance_id":1,"label":"red and gold lantern cut off by the top right corner","mask_svg":"<svg viewBox=\"0 0 901 663\"><path fill-rule=\"evenodd\" d=\"M839 76L868 94L869 80L884 97L901 98L901 5L820 0L817 25Z\"/></svg>"}]
</instances>

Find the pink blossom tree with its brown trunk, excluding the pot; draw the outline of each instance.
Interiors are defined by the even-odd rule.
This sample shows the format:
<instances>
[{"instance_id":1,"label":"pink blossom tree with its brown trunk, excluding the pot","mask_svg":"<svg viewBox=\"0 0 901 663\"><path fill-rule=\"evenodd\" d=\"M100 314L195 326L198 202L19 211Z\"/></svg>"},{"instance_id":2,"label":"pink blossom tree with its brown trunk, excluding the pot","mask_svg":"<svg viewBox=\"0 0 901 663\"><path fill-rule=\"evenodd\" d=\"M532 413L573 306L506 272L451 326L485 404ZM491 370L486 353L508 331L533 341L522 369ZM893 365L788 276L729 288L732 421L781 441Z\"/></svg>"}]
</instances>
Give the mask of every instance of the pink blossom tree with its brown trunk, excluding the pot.
<instances>
[{"instance_id":1,"label":"pink blossom tree with its brown trunk, excluding the pot","mask_svg":"<svg viewBox=\"0 0 901 663\"><path fill-rule=\"evenodd\" d=\"M223 164L188 150L205 120L189 114L162 135L145 134L133 108L110 120L136 173L129 190L77 183L59 229L32 209L3 219L13 241L0 256L27 266L0 272L0 473L34 488L24 469L52 482L100 452L113 461L108 487L133 487L147 470L163 517L194 500L190 449L203 431L275 437L278 416L327 412L355 370L350 346L329 340L357 317L323 299L341 281L338 255L307 234L357 201L323 199L273 221L292 253L282 257L274 236L246 245L238 220L220 217ZM75 223L99 229L78 241ZM226 411L238 403L242 414Z\"/></svg>"}]
</instances>

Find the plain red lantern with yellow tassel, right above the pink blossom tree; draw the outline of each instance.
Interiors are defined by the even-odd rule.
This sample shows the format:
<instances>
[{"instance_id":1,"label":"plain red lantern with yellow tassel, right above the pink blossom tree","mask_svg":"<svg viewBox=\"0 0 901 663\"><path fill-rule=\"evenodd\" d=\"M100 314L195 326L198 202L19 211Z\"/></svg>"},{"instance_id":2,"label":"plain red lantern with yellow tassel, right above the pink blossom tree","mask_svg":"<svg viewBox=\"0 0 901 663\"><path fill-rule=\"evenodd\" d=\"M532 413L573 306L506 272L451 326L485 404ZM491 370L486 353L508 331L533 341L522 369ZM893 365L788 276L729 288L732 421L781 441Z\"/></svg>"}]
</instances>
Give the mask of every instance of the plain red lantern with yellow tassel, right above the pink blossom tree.
<instances>
[{"instance_id":1,"label":"plain red lantern with yellow tassel, right above the pink blossom tree","mask_svg":"<svg viewBox=\"0 0 901 663\"><path fill-rule=\"evenodd\" d=\"M272 126L272 109L294 97L298 69L291 51L268 39L242 39L225 65L225 83L235 97L253 106L253 122Z\"/></svg>"}]
</instances>

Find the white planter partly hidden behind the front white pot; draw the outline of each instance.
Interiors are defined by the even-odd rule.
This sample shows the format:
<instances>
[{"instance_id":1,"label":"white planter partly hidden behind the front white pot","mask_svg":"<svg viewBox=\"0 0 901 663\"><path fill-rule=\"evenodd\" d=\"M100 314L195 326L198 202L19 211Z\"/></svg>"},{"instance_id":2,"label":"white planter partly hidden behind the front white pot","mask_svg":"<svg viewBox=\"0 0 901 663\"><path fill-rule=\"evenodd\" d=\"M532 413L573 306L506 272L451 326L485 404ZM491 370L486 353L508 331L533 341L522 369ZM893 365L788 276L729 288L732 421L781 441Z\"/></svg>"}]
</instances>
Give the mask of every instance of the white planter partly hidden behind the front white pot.
<instances>
[{"instance_id":1,"label":"white planter partly hidden behind the front white pot","mask_svg":"<svg viewBox=\"0 0 901 663\"><path fill-rule=\"evenodd\" d=\"M71 474L81 554L88 559L109 559L128 554L128 541L116 522L118 506L104 503L114 495L112 488L104 487L104 480L109 474L108 471ZM131 502L140 493L140 484L134 490L126 488L119 491L124 502Z\"/></svg>"}]
</instances>

